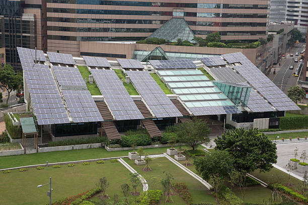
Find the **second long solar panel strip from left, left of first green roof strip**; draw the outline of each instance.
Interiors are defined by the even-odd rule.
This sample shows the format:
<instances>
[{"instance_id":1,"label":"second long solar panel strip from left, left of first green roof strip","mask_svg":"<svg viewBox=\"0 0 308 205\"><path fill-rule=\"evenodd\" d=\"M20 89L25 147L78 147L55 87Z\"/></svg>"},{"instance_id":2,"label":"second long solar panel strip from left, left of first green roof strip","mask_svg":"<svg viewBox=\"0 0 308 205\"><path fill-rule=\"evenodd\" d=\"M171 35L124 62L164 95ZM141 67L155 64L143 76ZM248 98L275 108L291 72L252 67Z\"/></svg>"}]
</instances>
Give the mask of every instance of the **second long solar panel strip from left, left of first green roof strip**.
<instances>
[{"instance_id":1,"label":"second long solar panel strip from left, left of first green roof strip","mask_svg":"<svg viewBox=\"0 0 308 205\"><path fill-rule=\"evenodd\" d=\"M102 122L103 118L78 68L53 66L52 69L73 122Z\"/></svg>"}]
</instances>

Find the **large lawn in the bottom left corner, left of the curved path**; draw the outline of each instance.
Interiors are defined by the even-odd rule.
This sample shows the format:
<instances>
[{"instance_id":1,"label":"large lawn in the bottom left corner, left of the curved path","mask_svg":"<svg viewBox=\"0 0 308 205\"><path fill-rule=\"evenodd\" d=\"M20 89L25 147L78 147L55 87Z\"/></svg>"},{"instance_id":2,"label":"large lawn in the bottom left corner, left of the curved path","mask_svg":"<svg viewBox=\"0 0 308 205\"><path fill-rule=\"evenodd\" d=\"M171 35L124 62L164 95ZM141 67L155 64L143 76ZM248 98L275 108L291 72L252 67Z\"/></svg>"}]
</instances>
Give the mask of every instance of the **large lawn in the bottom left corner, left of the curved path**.
<instances>
[{"instance_id":1,"label":"large lawn in the bottom left corner, left of the curved path","mask_svg":"<svg viewBox=\"0 0 308 205\"><path fill-rule=\"evenodd\" d=\"M116 170L116 175L115 175ZM1 204L47 204L48 184L38 188L37 185L49 182L52 177L52 201L66 198L72 195L83 193L96 187L100 177L107 177L110 182L106 193L110 196L121 192L121 184L129 180L129 171L119 162L104 164L91 162L90 165L76 164L74 167L61 165L61 168L54 169L45 167L42 170L29 168L26 172L12 170L11 173L0 173Z\"/></svg>"}]
</instances>

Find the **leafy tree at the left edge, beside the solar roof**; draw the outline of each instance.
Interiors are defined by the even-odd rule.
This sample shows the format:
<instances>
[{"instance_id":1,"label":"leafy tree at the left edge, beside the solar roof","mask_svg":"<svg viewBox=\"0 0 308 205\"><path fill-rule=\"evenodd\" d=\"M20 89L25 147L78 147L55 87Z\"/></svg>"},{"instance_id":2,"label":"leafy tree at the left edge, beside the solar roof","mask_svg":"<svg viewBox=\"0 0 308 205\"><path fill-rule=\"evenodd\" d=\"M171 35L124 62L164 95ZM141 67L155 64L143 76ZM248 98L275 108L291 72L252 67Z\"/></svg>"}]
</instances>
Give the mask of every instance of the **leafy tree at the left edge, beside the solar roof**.
<instances>
[{"instance_id":1,"label":"leafy tree at the left edge, beside the solar roof","mask_svg":"<svg viewBox=\"0 0 308 205\"><path fill-rule=\"evenodd\" d=\"M0 67L0 84L8 91L7 104L9 102L11 92L20 88L20 86L22 86L22 82L22 76L16 75L11 65L5 64Z\"/></svg>"}]
</instances>

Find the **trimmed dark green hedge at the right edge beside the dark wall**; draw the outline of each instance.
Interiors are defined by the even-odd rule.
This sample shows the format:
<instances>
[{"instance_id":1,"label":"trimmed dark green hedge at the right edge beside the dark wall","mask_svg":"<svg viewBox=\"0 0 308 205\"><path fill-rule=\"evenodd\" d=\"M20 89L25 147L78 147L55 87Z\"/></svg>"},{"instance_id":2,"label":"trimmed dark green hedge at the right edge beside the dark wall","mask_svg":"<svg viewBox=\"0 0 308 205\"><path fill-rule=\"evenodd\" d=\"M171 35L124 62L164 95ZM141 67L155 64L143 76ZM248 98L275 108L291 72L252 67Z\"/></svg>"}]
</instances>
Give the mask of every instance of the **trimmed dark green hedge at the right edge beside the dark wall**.
<instances>
[{"instance_id":1,"label":"trimmed dark green hedge at the right edge beside the dark wall","mask_svg":"<svg viewBox=\"0 0 308 205\"><path fill-rule=\"evenodd\" d=\"M282 130L307 129L308 116L280 117L279 128Z\"/></svg>"}]
</instances>

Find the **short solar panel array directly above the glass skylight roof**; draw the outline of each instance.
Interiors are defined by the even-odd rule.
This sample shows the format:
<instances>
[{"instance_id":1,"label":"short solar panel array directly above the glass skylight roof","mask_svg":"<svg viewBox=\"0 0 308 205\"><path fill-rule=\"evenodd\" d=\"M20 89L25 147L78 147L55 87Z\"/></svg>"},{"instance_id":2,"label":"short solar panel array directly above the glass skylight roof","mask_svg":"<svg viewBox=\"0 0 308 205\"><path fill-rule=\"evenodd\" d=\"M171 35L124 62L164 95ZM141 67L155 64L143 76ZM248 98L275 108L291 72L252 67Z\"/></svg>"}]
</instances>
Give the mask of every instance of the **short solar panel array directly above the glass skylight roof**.
<instances>
[{"instance_id":1,"label":"short solar panel array directly above the glass skylight roof","mask_svg":"<svg viewBox=\"0 0 308 205\"><path fill-rule=\"evenodd\" d=\"M184 60L149 60L149 63L155 69L176 69L176 68L197 68L197 66L188 59Z\"/></svg>"}]
</instances>

